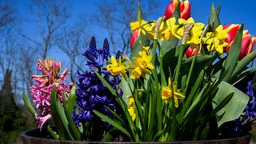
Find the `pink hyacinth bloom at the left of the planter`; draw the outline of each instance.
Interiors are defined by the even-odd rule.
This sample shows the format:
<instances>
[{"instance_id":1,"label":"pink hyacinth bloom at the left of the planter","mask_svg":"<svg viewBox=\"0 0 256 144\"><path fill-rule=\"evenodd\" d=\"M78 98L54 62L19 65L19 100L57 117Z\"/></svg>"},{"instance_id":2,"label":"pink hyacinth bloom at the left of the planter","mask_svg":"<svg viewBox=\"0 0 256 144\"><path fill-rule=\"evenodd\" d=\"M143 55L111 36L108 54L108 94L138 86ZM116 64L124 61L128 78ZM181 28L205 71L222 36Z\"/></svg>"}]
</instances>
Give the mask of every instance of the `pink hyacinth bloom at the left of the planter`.
<instances>
[{"instance_id":1,"label":"pink hyacinth bloom at the left of the planter","mask_svg":"<svg viewBox=\"0 0 256 144\"><path fill-rule=\"evenodd\" d=\"M38 128L41 130L42 125L51 118L50 115L50 92L56 87L56 94L60 102L62 102L62 93L66 92L66 98L70 93L72 83L65 85L68 70L65 69L62 74L58 74L62 68L61 62L56 62L52 58L46 58L44 61L38 60L38 71L42 75L32 75L34 86L30 87L30 93L33 96L35 108L41 111L41 115L36 115Z\"/></svg>"}]
</instances>

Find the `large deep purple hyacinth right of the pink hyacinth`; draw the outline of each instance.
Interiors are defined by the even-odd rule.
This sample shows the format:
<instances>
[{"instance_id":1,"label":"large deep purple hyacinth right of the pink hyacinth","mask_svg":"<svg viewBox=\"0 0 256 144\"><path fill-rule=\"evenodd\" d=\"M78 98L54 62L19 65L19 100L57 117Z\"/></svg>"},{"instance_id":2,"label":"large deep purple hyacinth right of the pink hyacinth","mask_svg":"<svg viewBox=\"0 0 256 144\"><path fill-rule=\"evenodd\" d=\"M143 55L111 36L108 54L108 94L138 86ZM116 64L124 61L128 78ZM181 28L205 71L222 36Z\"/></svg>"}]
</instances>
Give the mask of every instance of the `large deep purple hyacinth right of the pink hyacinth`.
<instances>
[{"instance_id":1,"label":"large deep purple hyacinth right of the pink hyacinth","mask_svg":"<svg viewBox=\"0 0 256 144\"><path fill-rule=\"evenodd\" d=\"M102 50L96 48L95 38L91 38L89 49L83 54L87 58L86 65L97 68L99 74L110 83L114 90L119 91L122 96L122 90L118 90L118 83L121 82L118 76L112 76L109 71L102 69L105 65L106 59L109 58L110 49L107 40L105 39ZM74 122L77 126L85 124L86 122L102 122L94 115L93 110L97 110L102 114L114 118L106 107L118 113L118 103L111 94L110 90L102 83L93 70L86 70L85 72L78 71L78 89L77 107L73 110ZM106 106L106 107L105 107ZM106 128L110 128L108 123L104 123Z\"/></svg>"}]
</instances>

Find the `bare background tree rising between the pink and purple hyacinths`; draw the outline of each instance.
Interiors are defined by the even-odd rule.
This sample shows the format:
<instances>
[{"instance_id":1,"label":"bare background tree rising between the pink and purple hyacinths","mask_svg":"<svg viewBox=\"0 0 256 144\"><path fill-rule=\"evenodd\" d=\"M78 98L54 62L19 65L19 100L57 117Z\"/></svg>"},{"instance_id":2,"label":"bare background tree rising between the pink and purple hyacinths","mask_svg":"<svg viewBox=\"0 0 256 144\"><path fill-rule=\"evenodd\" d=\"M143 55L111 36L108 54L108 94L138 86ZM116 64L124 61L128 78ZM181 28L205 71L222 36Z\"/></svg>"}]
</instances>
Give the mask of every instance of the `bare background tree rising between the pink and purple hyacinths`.
<instances>
[{"instance_id":1,"label":"bare background tree rising between the pink and purple hyacinths","mask_svg":"<svg viewBox=\"0 0 256 144\"><path fill-rule=\"evenodd\" d=\"M85 66L82 53L90 39L86 22L78 22L71 26L66 26L60 30L56 45L69 59L70 79L74 82L77 70L82 71Z\"/></svg>"}]
</instances>

